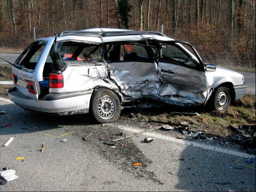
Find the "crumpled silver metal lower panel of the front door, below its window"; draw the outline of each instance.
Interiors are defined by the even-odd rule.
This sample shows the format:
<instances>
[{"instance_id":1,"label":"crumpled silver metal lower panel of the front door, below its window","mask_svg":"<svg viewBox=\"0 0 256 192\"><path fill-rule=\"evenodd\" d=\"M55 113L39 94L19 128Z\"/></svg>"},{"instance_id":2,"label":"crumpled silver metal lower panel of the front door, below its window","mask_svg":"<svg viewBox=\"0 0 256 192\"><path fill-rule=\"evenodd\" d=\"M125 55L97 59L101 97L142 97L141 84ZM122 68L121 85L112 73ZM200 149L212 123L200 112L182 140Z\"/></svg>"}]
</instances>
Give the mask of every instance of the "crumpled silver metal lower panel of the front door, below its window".
<instances>
[{"instance_id":1,"label":"crumpled silver metal lower panel of the front door, below its window","mask_svg":"<svg viewBox=\"0 0 256 192\"><path fill-rule=\"evenodd\" d=\"M163 81L161 96L180 95L197 103L204 103L209 93L211 94L213 78L205 71L159 62L159 77Z\"/></svg>"}]
</instances>

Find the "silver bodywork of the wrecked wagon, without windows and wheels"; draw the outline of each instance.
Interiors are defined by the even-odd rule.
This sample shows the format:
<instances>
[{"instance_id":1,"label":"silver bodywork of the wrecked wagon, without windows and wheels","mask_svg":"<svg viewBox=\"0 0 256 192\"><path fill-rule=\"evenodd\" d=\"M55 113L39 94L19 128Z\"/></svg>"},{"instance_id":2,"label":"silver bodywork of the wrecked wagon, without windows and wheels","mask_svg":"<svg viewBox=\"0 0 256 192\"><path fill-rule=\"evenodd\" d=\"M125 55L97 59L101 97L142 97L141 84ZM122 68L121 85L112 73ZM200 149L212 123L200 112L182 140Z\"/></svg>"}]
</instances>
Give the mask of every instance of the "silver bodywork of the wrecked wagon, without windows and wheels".
<instances>
[{"instance_id":1,"label":"silver bodywork of the wrecked wagon, without windows and wheels","mask_svg":"<svg viewBox=\"0 0 256 192\"><path fill-rule=\"evenodd\" d=\"M132 32L131 30L96 28L83 30L84 32ZM63 75L64 86L61 88L49 88L48 94L42 94L40 82L44 81L44 65L54 44L58 42L84 42L86 44L105 45L120 42L140 42L145 40L158 41L168 44L174 41L164 35L158 34L131 34L120 36L86 36L74 35L67 32L65 36L52 36L41 38L37 42L46 42L40 58L34 69L19 67L23 55L18 57L12 67L15 83L14 90L8 95L16 105L31 111L44 113L71 115L76 113L88 113L92 94L99 87L110 89L118 95L121 104L136 101L141 98L150 98L155 101L180 106L204 105L214 88L228 83L234 89L234 99L240 99L246 94L247 86L244 84L240 73L216 67L213 70L197 70L186 66L170 64L161 61L120 61L109 62L102 56L100 61L83 64L84 61L66 61L68 63L60 73ZM196 57L188 49L181 48L194 62L200 58ZM157 54L157 53L156 53ZM51 60L51 59L50 59ZM211 67L209 65L208 67ZM215 67L215 66L214 66ZM213 67L213 68L214 68ZM19 80L20 79L20 80ZM19 83L18 83L19 81ZM29 92L28 85L34 90ZM42 96L43 95L43 96ZM177 97L178 96L178 97Z\"/></svg>"}]
</instances>

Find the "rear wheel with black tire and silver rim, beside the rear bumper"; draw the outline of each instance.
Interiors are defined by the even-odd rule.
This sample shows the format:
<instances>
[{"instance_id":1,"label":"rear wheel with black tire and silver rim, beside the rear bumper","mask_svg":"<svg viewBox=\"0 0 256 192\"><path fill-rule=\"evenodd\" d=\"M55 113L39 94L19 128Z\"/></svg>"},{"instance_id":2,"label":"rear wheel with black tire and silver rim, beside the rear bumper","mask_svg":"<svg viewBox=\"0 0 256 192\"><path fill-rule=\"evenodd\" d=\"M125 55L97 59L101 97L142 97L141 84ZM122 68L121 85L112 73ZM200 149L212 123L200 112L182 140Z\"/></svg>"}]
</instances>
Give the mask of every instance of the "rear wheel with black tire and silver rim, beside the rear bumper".
<instances>
[{"instance_id":1,"label":"rear wheel with black tire and silver rim, beside the rear bumper","mask_svg":"<svg viewBox=\"0 0 256 192\"><path fill-rule=\"evenodd\" d=\"M121 104L117 95L109 89L99 89L92 94L90 114L98 123L116 121L121 113Z\"/></svg>"}]
</instances>

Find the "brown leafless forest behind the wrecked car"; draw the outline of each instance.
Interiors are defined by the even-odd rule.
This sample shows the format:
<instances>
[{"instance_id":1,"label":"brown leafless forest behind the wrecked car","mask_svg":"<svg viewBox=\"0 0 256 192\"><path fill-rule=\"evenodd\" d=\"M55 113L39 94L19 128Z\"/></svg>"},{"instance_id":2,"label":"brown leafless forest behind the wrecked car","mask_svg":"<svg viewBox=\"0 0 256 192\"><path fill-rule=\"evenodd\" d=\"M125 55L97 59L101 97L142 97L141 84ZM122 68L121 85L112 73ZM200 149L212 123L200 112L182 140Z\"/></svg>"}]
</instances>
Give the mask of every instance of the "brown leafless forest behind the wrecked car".
<instances>
[{"instance_id":1,"label":"brown leafless forest behind the wrecked car","mask_svg":"<svg viewBox=\"0 0 256 192\"><path fill-rule=\"evenodd\" d=\"M206 63L255 71L255 1L0 0L0 51L22 52L34 38L63 30L162 28Z\"/></svg>"}]
</instances>

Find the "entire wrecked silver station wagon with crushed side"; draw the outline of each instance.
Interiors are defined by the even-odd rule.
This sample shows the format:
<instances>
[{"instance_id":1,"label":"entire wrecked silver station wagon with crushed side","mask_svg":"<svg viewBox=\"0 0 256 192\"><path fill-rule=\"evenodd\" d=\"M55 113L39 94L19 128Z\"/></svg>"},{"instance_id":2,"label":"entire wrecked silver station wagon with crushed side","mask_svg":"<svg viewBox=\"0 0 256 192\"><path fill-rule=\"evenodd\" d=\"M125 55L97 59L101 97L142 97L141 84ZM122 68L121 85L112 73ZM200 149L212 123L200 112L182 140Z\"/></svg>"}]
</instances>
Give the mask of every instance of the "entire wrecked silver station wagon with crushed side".
<instances>
[{"instance_id":1,"label":"entire wrecked silver station wagon with crushed side","mask_svg":"<svg viewBox=\"0 0 256 192\"><path fill-rule=\"evenodd\" d=\"M84 60L87 53L92 60ZM12 67L11 101L52 115L116 121L124 107L166 104L225 111L247 91L242 74L203 63L160 32L94 28L35 40ZM145 104L146 103L146 104Z\"/></svg>"}]
</instances>

